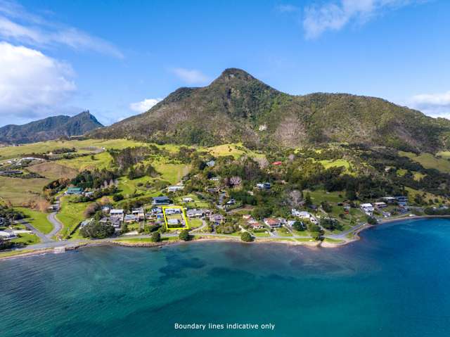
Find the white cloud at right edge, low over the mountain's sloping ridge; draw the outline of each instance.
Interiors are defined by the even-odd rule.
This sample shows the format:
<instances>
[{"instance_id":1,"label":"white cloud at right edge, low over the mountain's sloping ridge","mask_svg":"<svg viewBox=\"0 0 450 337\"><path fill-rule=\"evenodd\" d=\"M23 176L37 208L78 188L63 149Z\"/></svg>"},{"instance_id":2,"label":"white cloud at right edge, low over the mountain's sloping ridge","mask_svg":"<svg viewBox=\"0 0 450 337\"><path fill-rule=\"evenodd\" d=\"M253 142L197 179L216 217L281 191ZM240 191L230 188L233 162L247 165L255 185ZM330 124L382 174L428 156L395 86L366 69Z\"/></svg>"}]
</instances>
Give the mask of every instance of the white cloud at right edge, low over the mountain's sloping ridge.
<instances>
[{"instance_id":1,"label":"white cloud at right edge, low over the mountain's sloping ridge","mask_svg":"<svg viewBox=\"0 0 450 337\"><path fill-rule=\"evenodd\" d=\"M409 106L432 117L450 117L450 91L419 94L411 97Z\"/></svg>"}]
</instances>

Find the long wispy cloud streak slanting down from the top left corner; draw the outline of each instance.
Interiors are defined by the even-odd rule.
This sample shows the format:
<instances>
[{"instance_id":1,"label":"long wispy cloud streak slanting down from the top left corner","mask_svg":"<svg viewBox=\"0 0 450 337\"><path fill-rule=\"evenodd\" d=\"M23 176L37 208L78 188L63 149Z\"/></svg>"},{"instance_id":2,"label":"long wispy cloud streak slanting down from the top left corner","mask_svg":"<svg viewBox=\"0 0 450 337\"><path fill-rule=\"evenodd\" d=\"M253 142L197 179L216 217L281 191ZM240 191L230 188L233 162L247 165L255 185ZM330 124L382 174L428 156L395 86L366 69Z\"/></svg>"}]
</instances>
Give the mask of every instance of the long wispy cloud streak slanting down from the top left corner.
<instances>
[{"instance_id":1,"label":"long wispy cloud streak slanting down from the top left corner","mask_svg":"<svg viewBox=\"0 0 450 337\"><path fill-rule=\"evenodd\" d=\"M74 27L67 27L37 15L11 1L0 0L0 37L20 44L46 48L64 45L77 50L91 50L123 58L122 53L109 42Z\"/></svg>"}]
</instances>

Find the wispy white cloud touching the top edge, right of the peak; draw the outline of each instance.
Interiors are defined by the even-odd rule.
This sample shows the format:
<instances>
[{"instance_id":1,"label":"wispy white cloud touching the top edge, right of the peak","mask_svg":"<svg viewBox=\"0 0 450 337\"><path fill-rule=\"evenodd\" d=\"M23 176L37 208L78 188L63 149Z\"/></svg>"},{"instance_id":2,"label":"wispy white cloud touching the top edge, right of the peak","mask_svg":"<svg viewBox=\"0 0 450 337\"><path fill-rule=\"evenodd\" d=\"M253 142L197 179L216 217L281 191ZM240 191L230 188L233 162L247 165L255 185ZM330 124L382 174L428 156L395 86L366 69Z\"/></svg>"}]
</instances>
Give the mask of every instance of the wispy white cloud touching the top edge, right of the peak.
<instances>
[{"instance_id":1,"label":"wispy white cloud touching the top edge, right of the peak","mask_svg":"<svg viewBox=\"0 0 450 337\"><path fill-rule=\"evenodd\" d=\"M424 0L339 0L304 8L303 27L308 39L327 30L340 30L351 21L364 23L383 10L396 9Z\"/></svg>"}]
</instances>

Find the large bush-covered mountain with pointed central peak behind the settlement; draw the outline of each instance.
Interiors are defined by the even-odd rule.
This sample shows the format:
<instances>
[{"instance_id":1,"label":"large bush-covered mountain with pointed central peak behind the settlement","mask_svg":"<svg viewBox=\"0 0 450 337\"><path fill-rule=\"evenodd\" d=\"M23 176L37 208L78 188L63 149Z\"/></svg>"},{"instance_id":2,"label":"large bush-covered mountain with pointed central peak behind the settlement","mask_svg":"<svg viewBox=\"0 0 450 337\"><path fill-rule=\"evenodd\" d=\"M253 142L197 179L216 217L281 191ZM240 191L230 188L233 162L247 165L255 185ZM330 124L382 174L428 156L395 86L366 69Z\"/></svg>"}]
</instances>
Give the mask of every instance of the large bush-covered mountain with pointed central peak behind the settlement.
<instances>
[{"instance_id":1,"label":"large bush-covered mountain with pointed central peak behind the settlement","mask_svg":"<svg viewBox=\"0 0 450 337\"><path fill-rule=\"evenodd\" d=\"M243 141L250 147L297 147L337 141L436 151L450 144L450 121L381 98L284 94L232 68L207 87L177 89L146 113L91 135L207 146Z\"/></svg>"}]
</instances>

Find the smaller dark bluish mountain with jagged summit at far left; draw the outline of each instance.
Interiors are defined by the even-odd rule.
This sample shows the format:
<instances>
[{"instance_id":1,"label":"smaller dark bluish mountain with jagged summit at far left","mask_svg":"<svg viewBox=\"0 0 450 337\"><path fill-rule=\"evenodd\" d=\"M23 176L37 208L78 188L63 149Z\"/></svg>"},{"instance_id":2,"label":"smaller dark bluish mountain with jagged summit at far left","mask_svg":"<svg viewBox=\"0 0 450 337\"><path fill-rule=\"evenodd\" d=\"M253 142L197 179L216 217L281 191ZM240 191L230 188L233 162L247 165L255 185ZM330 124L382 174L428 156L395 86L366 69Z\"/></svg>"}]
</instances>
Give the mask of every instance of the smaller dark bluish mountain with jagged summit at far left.
<instances>
[{"instance_id":1,"label":"smaller dark bluish mountain with jagged summit at far left","mask_svg":"<svg viewBox=\"0 0 450 337\"><path fill-rule=\"evenodd\" d=\"M63 136L79 136L98 127L103 125L89 111L73 117L63 115L47 117L25 125L0 127L0 144L25 144L58 139Z\"/></svg>"}]
</instances>

